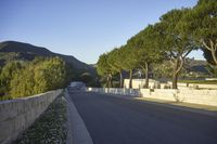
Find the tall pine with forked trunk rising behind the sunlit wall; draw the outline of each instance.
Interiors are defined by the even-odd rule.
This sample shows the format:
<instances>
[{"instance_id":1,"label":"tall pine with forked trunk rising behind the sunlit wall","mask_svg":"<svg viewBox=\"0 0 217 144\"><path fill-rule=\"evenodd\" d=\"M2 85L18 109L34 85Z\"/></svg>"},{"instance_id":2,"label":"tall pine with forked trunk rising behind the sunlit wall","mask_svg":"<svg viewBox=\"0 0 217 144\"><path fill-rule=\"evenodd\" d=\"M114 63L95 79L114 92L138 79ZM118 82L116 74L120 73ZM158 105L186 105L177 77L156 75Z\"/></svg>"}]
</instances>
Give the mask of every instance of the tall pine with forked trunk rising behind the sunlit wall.
<instances>
[{"instance_id":1,"label":"tall pine with forked trunk rising behind the sunlit wall","mask_svg":"<svg viewBox=\"0 0 217 144\"><path fill-rule=\"evenodd\" d=\"M192 34L186 30L183 17L190 12L190 9L171 10L161 17L159 27L162 44L167 56L173 62L173 89L177 89L178 76L184 66L188 54L196 49L192 39Z\"/></svg>"}]
</instances>

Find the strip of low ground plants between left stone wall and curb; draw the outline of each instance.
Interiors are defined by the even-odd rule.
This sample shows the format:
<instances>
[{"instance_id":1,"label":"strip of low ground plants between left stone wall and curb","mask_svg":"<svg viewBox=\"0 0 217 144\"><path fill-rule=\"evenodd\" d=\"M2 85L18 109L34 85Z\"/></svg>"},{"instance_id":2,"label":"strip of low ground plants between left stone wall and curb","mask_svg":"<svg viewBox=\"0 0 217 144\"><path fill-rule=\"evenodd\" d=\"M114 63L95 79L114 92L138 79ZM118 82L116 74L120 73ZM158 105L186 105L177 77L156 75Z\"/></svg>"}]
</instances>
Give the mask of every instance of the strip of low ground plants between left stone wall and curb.
<instances>
[{"instance_id":1,"label":"strip of low ground plants between left stone wall and curb","mask_svg":"<svg viewBox=\"0 0 217 144\"><path fill-rule=\"evenodd\" d=\"M14 144L65 144L66 122L66 101L62 94Z\"/></svg>"}]
</instances>

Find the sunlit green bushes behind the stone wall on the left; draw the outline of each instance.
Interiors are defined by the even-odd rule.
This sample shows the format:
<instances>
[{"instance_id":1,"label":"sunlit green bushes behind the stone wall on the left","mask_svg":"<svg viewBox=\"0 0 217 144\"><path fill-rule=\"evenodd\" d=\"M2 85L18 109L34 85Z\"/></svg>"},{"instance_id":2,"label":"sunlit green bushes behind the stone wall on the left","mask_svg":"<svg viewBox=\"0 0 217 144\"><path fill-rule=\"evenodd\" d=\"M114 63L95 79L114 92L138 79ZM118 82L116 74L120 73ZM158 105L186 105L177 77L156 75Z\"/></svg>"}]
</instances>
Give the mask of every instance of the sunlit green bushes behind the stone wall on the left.
<instances>
[{"instance_id":1,"label":"sunlit green bushes behind the stone wall on the left","mask_svg":"<svg viewBox=\"0 0 217 144\"><path fill-rule=\"evenodd\" d=\"M29 96L67 84L67 69L60 57L10 62L0 74L0 100Z\"/></svg>"}]
</instances>

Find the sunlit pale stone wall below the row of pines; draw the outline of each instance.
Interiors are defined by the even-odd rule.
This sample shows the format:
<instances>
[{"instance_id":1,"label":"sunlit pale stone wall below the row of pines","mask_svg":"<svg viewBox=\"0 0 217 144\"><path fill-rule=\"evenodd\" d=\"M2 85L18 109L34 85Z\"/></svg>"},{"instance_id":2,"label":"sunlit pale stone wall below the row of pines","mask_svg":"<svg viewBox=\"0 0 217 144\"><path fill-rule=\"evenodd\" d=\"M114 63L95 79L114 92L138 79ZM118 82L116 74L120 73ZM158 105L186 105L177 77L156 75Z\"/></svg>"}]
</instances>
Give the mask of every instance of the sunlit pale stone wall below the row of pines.
<instances>
[{"instance_id":1,"label":"sunlit pale stone wall below the row of pines","mask_svg":"<svg viewBox=\"0 0 217 144\"><path fill-rule=\"evenodd\" d=\"M88 91L217 106L217 90L88 88Z\"/></svg>"}]
</instances>

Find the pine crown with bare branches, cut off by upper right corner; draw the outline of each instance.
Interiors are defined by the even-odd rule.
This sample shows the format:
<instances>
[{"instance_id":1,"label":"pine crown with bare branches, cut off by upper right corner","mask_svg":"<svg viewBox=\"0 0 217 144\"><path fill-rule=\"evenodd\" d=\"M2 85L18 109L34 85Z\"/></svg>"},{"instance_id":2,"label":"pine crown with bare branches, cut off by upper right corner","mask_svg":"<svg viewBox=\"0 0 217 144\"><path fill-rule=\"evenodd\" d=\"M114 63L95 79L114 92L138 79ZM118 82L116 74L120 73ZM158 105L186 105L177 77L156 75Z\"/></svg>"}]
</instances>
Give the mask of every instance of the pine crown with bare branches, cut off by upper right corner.
<instances>
[{"instance_id":1,"label":"pine crown with bare branches, cut off by upper right corner","mask_svg":"<svg viewBox=\"0 0 217 144\"><path fill-rule=\"evenodd\" d=\"M217 65L217 1L199 0L197 4L182 18L186 31L204 51L212 65Z\"/></svg>"}]
</instances>

